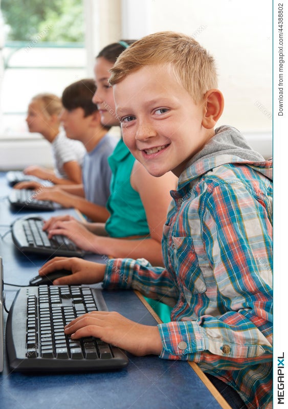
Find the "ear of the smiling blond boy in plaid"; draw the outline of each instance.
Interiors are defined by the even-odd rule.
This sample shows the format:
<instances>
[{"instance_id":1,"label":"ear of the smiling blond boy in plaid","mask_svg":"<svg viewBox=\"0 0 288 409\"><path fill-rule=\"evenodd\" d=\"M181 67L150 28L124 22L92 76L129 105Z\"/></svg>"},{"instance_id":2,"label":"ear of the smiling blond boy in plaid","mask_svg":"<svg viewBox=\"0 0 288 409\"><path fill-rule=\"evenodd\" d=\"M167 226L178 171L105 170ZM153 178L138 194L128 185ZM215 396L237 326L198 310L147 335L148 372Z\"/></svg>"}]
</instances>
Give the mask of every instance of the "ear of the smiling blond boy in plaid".
<instances>
[{"instance_id":1,"label":"ear of the smiling blond boy in plaid","mask_svg":"<svg viewBox=\"0 0 288 409\"><path fill-rule=\"evenodd\" d=\"M206 129L214 128L224 109L224 98L219 89L209 89L204 95L204 116L202 125Z\"/></svg>"}]
</instances>

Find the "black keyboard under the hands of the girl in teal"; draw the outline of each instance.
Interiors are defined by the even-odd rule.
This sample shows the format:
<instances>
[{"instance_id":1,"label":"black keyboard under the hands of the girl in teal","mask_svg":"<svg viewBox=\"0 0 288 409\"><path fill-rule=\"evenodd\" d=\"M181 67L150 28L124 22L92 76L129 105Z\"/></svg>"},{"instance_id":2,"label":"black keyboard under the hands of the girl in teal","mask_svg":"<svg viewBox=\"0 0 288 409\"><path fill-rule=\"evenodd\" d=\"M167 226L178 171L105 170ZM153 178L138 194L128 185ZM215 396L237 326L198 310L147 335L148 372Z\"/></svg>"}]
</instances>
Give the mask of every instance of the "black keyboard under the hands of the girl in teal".
<instances>
[{"instance_id":1,"label":"black keyboard under the hands of the girl in teal","mask_svg":"<svg viewBox=\"0 0 288 409\"><path fill-rule=\"evenodd\" d=\"M11 225L12 239L24 253L38 253L51 256L83 257L85 252L62 235L48 238L42 230L45 220L37 216L17 219Z\"/></svg>"}]
</instances>

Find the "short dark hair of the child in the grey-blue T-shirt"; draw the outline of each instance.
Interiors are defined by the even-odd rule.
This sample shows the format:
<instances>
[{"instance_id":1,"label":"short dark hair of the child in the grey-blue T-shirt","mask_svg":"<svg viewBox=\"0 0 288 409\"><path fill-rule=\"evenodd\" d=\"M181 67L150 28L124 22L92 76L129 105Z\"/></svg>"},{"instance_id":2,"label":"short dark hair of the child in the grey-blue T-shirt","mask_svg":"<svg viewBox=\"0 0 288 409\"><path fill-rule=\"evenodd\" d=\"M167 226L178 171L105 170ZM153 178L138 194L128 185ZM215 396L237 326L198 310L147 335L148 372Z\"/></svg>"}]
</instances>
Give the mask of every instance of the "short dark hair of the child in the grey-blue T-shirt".
<instances>
[{"instance_id":1,"label":"short dark hair of the child in the grey-blue T-shirt","mask_svg":"<svg viewBox=\"0 0 288 409\"><path fill-rule=\"evenodd\" d=\"M97 111L97 105L92 102L96 92L96 85L93 79L84 78L68 85L62 93L63 107L69 111L75 108L83 108L84 117L92 115Z\"/></svg>"}]
</instances>

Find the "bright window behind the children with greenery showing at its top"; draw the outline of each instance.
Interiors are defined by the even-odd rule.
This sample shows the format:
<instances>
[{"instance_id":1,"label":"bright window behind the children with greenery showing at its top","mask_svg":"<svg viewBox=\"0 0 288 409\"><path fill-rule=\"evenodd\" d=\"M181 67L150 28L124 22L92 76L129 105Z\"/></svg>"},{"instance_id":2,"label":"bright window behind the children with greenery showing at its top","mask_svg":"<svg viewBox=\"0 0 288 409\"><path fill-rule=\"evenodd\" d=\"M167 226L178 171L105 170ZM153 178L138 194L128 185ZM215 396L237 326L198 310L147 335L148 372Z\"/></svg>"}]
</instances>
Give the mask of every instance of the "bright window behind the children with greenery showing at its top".
<instances>
[{"instance_id":1,"label":"bright window behind the children with greenery showing at its top","mask_svg":"<svg viewBox=\"0 0 288 409\"><path fill-rule=\"evenodd\" d=\"M2 138L27 137L29 101L40 92L61 96L86 76L81 0L2 0L4 48L1 76ZM37 135L29 135L37 138Z\"/></svg>"}]
</instances>

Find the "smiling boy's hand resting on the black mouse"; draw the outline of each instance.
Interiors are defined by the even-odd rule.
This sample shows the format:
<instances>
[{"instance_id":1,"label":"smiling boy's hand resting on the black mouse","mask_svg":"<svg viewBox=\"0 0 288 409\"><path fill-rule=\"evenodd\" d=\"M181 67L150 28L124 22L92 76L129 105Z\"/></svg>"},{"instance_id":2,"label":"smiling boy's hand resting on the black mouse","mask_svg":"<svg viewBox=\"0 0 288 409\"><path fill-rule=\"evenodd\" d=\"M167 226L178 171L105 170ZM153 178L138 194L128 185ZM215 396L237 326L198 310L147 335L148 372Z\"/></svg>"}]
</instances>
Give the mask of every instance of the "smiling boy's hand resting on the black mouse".
<instances>
[{"instance_id":1,"label":"smiling boy's hand resting on the black mouse","mask_svg":"<svg viewBox=\"0 0 288 409\"><path fill-rule=\"evenodd\" d=\"M53 281L54 285L95 284L104 279L105 264L82 260L77 257L55 257L39 269L40 276L49 275L55 270L70 270L72 275Z\"/></svg>"}]
</instances>

